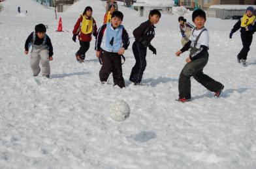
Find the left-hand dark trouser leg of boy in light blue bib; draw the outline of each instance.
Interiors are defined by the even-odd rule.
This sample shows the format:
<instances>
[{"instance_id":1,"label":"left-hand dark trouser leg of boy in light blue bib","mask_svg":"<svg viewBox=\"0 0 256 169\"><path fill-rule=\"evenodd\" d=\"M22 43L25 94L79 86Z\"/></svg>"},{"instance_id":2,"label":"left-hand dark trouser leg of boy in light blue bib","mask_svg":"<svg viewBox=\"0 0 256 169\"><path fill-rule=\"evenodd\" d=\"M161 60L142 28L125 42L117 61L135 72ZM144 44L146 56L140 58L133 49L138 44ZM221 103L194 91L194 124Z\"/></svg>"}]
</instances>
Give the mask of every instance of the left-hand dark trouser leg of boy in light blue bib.
<instances>
[{"instance_id":1,"label":"left-hand dark trouser leg of boy in light blue bib","mask_svg":"<svg viewBox=\"0 0 256 169\"><path fill-rule=\"evenodd\" d=\"M101 81L108 80L108 76L112 72L112 60L110 58L110 53L104 51L103 55L101 55L101 60L103 62L103 66L101 66L101 70L99 71L99 79Z\"/></svg>"}]
</instances>

